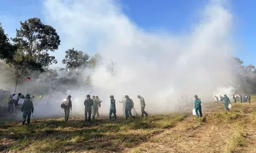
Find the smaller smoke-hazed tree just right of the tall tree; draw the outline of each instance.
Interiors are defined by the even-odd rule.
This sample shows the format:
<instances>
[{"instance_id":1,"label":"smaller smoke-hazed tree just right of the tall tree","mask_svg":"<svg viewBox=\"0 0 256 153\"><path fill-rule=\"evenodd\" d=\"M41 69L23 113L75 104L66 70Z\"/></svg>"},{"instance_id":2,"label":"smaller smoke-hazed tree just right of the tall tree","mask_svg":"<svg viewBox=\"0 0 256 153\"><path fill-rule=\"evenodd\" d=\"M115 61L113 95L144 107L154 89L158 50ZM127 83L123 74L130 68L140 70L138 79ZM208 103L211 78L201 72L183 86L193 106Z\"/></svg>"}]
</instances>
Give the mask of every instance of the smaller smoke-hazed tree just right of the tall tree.
<instances>
[{"instance_id":1,"label":"smaller smoke-hazed tree just right of the tall tree","mask_svg":"<svg viewBox=\"0 0 256 153\"><path fill-rule=\"evenodd\" d=\"M88 65L89 55L82 51L75 50L74 48L66 50L65 53L66 56L62 60L62 64L65 64L66 67L60 70L69 71L69 77L71 77L73 73L76 75L81 74Z\"/></svg>"}]
</instances>

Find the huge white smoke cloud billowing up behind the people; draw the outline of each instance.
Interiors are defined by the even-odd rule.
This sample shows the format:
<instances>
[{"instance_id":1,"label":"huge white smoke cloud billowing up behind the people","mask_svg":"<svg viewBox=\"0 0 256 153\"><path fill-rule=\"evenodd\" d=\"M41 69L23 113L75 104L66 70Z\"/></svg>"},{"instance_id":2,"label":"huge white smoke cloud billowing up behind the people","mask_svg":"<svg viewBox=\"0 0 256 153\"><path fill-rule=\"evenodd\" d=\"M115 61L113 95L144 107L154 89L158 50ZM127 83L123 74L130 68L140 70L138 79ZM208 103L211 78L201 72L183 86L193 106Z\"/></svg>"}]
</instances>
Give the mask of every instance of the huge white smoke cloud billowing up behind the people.
<instances>
[{"instance_id":1,"label":"huge white smoke cloud billowing up behind the people","mask_svg":"<svg viewBox=\"0 0 256 153\"><path fill-rule=\"evenodd\" d=\"M87 94L98 95L105 110L110 95L116 100L129 95L135 106L140 105L137 95L141 95L150 112L175 109L181 94L211 101L218 88L232 83L227 61L234 49L233 16L220 2L210 1L204 7L191 32L172 35L158 29L143 31L116 1L45 1L46 22L57 29L62 41L54 53L59 61L65 50L74 47L99 52L117 63L114 75L106 65L86 71L83 80L91 74L92 88L67 92L77 96L73 105L83 108Z\"/></svg>"}]
</instances>

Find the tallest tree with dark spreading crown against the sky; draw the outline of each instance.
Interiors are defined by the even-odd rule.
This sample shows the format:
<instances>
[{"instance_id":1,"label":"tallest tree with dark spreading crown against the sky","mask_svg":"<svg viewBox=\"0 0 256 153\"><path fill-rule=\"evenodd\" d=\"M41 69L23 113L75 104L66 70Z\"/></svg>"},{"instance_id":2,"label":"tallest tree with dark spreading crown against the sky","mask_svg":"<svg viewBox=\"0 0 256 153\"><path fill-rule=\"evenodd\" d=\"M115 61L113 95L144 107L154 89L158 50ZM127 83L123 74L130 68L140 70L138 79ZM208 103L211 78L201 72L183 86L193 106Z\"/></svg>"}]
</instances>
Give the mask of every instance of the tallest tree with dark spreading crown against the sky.
<instances>
[{"instance_id":1,"label":"tallest tree with dark spreading crown against the sky","mask_svg":"<svg viewBox=\"0 0 256 153\"><path fill-rule=\"evenodd\" d=\"M48 51L54 52L60 45L60 38L56 30L50 25L45 25L39 18L30 18L20 22L20 30L16 29L17 35L13 38L25 54L35 58L37 64L47 68L52 63L57 63L54 56Z\"/></svg>"}]
</instances>

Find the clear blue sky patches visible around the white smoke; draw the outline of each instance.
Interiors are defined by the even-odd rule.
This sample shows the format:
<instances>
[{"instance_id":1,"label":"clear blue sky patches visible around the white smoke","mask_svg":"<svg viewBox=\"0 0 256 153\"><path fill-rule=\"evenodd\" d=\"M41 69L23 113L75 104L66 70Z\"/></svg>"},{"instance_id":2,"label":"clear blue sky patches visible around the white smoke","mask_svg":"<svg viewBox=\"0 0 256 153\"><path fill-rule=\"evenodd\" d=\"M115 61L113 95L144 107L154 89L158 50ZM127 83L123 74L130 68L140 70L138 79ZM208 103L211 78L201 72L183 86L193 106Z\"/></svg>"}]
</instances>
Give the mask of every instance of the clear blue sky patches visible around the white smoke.
<instances>
[{"instance_id":1,"label":"clear blue sky patches visible around the white smoke","mask_svg":"<svg viewBox=\"0 0 256 153\"><path fill-rule=\"evenodd\" d=\"M191 30L191 24L198 21L195 17L208 2L205 0L118 0L123 12L130 20L145 31L163 29L170 33L180 34ZM254 64L256 52L254 42L256 38L255 14L253 8L256 1L232 1L228 7L234 15L234 40L237 43L237 56L244 64ZM38 17L44 22L42 1L36 0L2 0L0 1L0 22L9 36L15 35L19 28L19 21Z\"/></svg>"}]
</instances>

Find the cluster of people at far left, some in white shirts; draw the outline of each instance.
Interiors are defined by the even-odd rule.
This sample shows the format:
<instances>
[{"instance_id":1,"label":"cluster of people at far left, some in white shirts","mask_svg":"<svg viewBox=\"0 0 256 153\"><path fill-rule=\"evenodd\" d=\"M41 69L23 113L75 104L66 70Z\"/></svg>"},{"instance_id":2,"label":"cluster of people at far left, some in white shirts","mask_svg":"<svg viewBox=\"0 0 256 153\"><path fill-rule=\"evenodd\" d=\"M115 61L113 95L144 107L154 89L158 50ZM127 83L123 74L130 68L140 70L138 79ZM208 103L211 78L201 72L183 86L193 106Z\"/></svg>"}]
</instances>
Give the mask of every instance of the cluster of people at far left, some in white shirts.
<instances>
[{"instance_id":1,"label":"cluster of people at far left, some in white shirts","mask_svg":"<svg viewBox=\"0 0 256 153\"><path fill-rule=\"evenodd\" d=\"M17 113L21 111L23 113L23 122L24 125L27 121L27 124L30 123L31 113L34 112L33 102L30 100L30 95L26 96L19 93L18 95L13 94L8 98L8 112L9 113Z\"/></svg>"}]
</instances>

